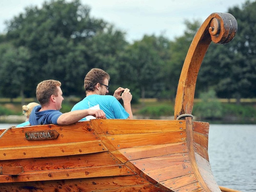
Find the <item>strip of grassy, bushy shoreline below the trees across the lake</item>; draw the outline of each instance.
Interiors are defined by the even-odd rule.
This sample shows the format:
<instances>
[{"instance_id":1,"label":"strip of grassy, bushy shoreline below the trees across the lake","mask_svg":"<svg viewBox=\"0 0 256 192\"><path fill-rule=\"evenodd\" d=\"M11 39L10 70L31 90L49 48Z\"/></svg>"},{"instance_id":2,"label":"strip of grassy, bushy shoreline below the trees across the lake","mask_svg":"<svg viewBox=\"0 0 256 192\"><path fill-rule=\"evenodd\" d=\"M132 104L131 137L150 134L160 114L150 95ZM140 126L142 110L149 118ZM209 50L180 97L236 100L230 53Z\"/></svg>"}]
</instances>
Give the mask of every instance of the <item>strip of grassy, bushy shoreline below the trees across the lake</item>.
<instances>
[{"instance_id":1,"label":"strip of grassy, bushy shoreline below the trees across the lake","mask_svg":"<svg viewBox=\"0 0 256 192\"><path fill-rule=\"evenodd\" d=\"M61 112L66 113L81 100L69 97L62 102ZM35 102L36 98L26 98L25 104ZM21 99L0 98L0 123L19 124L25 121L22 115ZM174 101L155 98L140 99L132 103L135 119L174 119ZM192 111L194 121L204 121L211 124L256 124L256 98L217 99L209 96L194 100Z\"/></svg>"}]
</instances>

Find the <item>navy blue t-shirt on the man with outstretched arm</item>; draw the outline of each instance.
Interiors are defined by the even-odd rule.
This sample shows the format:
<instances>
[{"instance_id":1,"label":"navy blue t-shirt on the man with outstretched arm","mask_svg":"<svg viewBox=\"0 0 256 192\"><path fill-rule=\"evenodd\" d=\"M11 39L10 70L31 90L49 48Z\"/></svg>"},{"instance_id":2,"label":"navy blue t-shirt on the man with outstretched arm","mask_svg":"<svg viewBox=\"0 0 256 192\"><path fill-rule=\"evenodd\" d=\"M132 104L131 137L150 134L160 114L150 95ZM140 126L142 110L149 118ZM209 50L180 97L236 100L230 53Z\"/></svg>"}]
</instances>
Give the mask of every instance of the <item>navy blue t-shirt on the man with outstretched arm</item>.
<instances>
[{"instance_id":1,"label":"navy blue t-shirt on the man with outstretched arm","mask_svg":"<svg viewBox=\"0 0 256 192\"><path fill-rule=\"evenodd\" d=\"M45 110L39 111L41 105L33 108L30 116L29 122L31 125L45 125L45 124L57 124L57 120L62 113L59 110Z\"/></svg>"}]
</instances>

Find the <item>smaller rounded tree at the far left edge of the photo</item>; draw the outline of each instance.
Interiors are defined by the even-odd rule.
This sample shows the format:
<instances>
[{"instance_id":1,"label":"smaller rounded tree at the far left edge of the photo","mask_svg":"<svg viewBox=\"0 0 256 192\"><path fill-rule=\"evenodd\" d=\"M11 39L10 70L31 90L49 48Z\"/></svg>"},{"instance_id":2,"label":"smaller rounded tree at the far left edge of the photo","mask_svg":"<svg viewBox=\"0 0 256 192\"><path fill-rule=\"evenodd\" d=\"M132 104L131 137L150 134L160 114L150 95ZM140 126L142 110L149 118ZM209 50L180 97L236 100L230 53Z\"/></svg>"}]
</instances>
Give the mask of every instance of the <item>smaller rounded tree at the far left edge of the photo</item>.
<instances>
[{"instance_id":1,"label":"smaller rounded tree at the far left edge of the photo","mask_svg":"<svg viewBox=\"0 0 256 192\"><path fill-rule=\"evenodd\" d=\"M15 98L21 96L22 104L24 97L31 96L26 91L31 88L30 52L20 46L15 48L12 44L0 44L0 90L5 97Z\"/></svg>"}]
</instances>

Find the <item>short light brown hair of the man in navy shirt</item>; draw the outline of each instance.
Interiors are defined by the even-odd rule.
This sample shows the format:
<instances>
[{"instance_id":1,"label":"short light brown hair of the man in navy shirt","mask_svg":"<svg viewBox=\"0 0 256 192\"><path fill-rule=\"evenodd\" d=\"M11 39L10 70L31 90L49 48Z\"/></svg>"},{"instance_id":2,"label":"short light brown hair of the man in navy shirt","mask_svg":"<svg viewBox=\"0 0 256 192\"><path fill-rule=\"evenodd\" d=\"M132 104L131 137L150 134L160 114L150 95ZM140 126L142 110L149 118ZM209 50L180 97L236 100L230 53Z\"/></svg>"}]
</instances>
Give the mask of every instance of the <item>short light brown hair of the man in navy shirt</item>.
<instances>
[{"instance_id":1,"label":"short light brown hair of the man in navy shirt","mask_svg":"<svg viewBox=\"0 0 256 192\"><path fill-rule=\"evenodd\" d=\"M57 86L61 86L61 83L52 79L44 80L37 85L36 99L41 106L45 106L49 103L51 95L58 96Z\"/></svg>"}]
</instances>

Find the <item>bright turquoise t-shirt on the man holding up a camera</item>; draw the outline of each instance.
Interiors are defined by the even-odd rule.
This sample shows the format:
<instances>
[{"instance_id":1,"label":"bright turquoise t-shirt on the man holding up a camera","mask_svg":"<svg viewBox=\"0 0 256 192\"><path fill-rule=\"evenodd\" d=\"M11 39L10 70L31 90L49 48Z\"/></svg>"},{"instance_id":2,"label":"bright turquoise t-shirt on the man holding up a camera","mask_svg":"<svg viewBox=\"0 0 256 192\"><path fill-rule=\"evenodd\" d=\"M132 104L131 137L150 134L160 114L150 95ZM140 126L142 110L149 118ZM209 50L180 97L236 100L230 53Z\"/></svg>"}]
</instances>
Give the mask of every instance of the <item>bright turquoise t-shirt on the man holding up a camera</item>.
<instances>
[{"instance_id":1,"label":"bright turquoise t-shirt on the man holding up a camera","mask_svg":"<svg viewBox=\"0 0 256 192\"><path fill-rule=\"evenodd\" d=\"M111 95L88 95L80 102L76 103L71 111L88 109L95 105L100 105L100 109L104 111L107 119L127 119L129 113L127 113L119 101ZM84 117L81 121L86 120Z\"/></svg>"}]
</instances>

